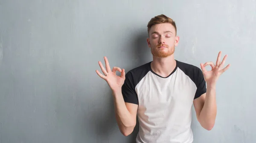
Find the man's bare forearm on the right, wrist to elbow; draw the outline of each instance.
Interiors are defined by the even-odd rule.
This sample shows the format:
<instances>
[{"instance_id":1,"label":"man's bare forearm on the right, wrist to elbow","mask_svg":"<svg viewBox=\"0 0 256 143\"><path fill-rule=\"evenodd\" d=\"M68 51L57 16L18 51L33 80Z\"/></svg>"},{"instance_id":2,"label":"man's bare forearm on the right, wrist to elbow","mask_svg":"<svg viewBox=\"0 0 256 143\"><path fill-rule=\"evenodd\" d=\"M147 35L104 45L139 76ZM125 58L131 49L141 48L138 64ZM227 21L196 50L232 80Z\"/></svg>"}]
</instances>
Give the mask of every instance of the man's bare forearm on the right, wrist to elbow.
<instances>
[{"instance_id":1,"label":"man's bare forearm on the right, wrist to elbow","mask_svg":"<svg viewBox=\"0 0 256 143\"><path fill-rule=\"evenodd\" d=\"M207 85L204 106L199 115L201 125L207 130L211 130L213 128L217 114L215 89L215 86Z\"/></svg>"}]
</instances>

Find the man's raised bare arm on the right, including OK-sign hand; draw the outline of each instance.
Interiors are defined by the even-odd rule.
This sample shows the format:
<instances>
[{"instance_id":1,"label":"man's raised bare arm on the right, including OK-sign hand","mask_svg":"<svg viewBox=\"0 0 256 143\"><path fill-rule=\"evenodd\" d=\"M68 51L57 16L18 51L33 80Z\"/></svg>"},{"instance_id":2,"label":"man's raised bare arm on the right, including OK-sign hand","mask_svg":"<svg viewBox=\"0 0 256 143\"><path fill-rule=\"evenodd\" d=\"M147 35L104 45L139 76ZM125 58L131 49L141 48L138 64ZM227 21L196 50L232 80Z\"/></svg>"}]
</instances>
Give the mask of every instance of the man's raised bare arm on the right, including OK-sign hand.
<instances>
[{"instance_id":1,"label":"man's raised bare arm on the right, including OK-sign hand","mask_svg":"<svg viewBox=\"0 0 256 143\"><path fill-rule=\"evenodd\" d=\"M224 69L221 69L224 66L225 60L227 55L224 56L222 62L221 58L221 51L218 54L216 65L212 62L207 62L204 64L200 64L202 69L202 74L204 77L203 82L198 86L200 87L199 91L205 91L206 93L202 94L200 97L194 100L194 107L197 119L201 126L204 129L211 130L215 124L216 114L217 114L217 106L216 106L216 82L218 77L224 73L229 67L228 64ZM205 66L210 65L212 67L211 71L207 71ZM201 78L202 74L199 74L199 78ZM207 88L205 89L205 84L207 83ZM204 87L204 88L201 88Z\"/></svg>"}]
</instances>

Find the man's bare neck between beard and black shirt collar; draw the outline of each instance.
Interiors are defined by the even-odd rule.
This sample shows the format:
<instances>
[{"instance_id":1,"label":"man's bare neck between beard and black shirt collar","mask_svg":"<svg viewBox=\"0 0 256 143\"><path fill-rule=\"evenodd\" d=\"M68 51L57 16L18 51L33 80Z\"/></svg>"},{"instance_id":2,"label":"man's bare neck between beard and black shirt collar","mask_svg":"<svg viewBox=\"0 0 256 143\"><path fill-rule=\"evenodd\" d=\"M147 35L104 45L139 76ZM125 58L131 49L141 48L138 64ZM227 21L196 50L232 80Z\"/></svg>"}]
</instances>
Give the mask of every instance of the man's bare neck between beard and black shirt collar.
<instances>
[{"instance_id":1,"label":"man's bare neck between beard and black shirt collar","mask_svg":"<svg viewBox=\"0 0 256 143\"><path fill-rule=\"evenodd\" d=\"M153 61L151 62L151 69L162 77L169 76L176 67L176 61L174 55L168 57L159 58L153 56Z\"/></svg>"}]
</instances>

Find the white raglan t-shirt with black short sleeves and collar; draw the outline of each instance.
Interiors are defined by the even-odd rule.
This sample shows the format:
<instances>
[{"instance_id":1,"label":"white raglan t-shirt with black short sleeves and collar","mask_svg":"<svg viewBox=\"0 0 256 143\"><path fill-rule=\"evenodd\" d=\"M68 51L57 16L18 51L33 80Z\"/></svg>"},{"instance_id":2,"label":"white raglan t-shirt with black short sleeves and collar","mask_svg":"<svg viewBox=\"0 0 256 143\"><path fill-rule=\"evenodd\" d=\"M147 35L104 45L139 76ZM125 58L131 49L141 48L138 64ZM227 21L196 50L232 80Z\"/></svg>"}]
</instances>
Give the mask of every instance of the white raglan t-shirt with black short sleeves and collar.
<instances>
[{"instance_id":1,"label":"white raglan t-shirt with black short sleeves and collar","mask_svg":"<svg viewBox=\"0 0 256 143\"><path fill-rule=\"evenodd\" d=\"M176 61L174 71L161 77L151 62L125 75L125 102L138 105L137 143L192 143L193 100L206 92L204 75L196 66Z\"/></svg>"}]
</instances>

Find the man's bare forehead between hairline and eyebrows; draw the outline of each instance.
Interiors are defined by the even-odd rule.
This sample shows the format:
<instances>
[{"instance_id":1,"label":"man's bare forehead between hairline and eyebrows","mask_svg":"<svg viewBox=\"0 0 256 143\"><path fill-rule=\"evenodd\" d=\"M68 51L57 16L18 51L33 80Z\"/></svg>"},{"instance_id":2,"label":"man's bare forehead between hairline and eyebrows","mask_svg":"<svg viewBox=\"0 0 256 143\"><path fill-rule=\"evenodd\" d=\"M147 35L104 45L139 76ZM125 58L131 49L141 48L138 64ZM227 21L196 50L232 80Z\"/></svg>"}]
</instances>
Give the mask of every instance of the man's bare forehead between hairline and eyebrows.
<instances>
[{"instance_id":1,"label":"man's bare forehead between hairline and eyebrows","mask_svg":"<svg viewBox=\"0 0 256 143\"><path fill-rule=\"evenodd\" d=\"M171 23L155 24L149 30L149 34L152 32L164 33L165 31L172 31L172 33L175 33L175 27L172 26Z\"/></svg>"}]
</instances>

